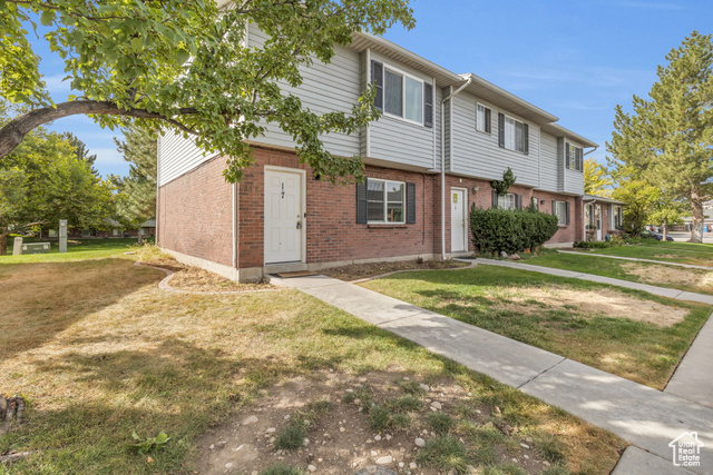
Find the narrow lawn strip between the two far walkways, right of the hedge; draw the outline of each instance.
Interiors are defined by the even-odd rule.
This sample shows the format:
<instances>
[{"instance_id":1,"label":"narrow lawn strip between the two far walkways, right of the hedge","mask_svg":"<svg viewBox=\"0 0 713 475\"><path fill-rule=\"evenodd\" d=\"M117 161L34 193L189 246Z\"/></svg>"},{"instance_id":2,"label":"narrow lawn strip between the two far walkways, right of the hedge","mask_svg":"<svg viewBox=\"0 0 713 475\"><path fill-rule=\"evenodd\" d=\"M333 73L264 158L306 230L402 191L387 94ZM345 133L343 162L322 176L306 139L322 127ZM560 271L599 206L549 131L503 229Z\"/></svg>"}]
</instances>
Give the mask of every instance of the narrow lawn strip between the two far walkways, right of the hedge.
<instances>
[{"instance_id":1,"label":"narrow lawn strip between the two far walkways, right of the hedge","mask_svg":"<svg viewBox=\"0 0 713 475\"><path fill-rule=\"evenodd\" d=\"M711 270L690 269L663 264L557 253L550 249L529 257L527 264L713 295L713 268Z\"/></svg>"}]
</instances>

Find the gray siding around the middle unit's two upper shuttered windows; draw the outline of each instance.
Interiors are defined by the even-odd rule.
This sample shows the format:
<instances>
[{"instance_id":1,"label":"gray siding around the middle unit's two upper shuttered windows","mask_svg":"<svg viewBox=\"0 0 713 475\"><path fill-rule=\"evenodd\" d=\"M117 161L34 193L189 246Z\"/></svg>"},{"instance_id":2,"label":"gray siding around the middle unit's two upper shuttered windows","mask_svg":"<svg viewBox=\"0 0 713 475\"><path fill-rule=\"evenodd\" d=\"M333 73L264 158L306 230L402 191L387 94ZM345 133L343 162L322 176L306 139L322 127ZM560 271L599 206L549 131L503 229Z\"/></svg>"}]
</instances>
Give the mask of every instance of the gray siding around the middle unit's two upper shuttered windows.
<instances>
[{"instance_id":1,"label":"gray siding around the middle unit's two upper shuttered windows","mask_svg":"<svg viewBox=\"0 0 713 475\"><path fill-rule=\"evenodd\" d=\"M476 130L476 102L491 110L491 133ZM498 146L498 112L529 125L529 155L508 150ZM451 171L486 179L501 179L510 167L517 184L537 187L539 185L538 150L539 127L507 110L478 100L469 93L453 98L453 125Z\"/></svg>"}]
</instances>

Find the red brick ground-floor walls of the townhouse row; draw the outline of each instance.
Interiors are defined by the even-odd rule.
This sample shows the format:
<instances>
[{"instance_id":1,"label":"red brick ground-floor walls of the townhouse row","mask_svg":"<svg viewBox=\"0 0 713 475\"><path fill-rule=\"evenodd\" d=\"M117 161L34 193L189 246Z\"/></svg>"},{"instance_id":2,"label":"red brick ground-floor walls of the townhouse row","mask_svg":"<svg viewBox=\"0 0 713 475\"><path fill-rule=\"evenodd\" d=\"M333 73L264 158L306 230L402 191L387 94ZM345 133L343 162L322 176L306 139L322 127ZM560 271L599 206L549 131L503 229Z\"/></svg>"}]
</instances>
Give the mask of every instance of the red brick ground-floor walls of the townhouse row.
<instances>
[{"instance_id":1,"label":"red brick ground-floor walls of the townhouse row","mask_svg":"<svg viewBox=\"0 0 713 475\"><path fill-rule=\"evenodd\" d=\"M158 243L162 247L225 266L264 266L264 182L265 166L306 170L306 264L351 261L399 256L440 256L441 181L440 175L427 175L368 166L367 177L416 184L416 224L356 224L355 186L331 185L314 178L310 168L299 164L294 154L255 149L255 164L245 170L236 186L236 249L233 254L233 186L221 175L225 161L214 158L188 174L160 187ZM447 199L451 187L468 190L468 206L489 208L492 204L488 181L447 176ZM473 188L477 187L477 191ZM563 196L512 186L510 192L522 197L522 206L533 196L545 200L540 209L549 212L551 200L570 202L570 225L561 227L550 243L572 243L582 236L580 197ZM450 253L450 206L446 206L446 251ZM472 249L471 238L468 239Z\"/></svg>"}]
</instances>

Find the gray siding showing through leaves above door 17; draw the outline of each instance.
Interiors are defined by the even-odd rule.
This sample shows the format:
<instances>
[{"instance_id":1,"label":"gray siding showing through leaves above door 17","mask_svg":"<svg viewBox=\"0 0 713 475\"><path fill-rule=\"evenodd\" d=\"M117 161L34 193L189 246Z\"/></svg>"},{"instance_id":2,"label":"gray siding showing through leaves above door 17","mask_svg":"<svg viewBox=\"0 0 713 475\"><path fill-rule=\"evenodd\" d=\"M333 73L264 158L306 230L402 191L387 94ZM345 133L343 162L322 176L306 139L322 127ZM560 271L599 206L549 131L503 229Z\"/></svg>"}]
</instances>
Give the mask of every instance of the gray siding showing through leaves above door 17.
<instances>
[{"instance_id":1,"label":"gray siding showing through leaves above door 17","mask_svg":"<svg viewBox=\"0 0 713 475\"><path fill-rule=\"evenodd\" d=\"M265 34L254 26L250 28L248 43L260 48L265 42ZM309 68L301 68L303 83L292 88L280 82L283 95L292 93L302 100L302 106L316 113L351 112L361 96L360 55L336 46L329 65L315 60ZM264 137L253 140L261 144L294 148L295 144L287 133L275 123L263 123L266 128ZM328 151L342 157L360 154L359 133L328 133L321 137Z\"/></svg>"}]
</instances>

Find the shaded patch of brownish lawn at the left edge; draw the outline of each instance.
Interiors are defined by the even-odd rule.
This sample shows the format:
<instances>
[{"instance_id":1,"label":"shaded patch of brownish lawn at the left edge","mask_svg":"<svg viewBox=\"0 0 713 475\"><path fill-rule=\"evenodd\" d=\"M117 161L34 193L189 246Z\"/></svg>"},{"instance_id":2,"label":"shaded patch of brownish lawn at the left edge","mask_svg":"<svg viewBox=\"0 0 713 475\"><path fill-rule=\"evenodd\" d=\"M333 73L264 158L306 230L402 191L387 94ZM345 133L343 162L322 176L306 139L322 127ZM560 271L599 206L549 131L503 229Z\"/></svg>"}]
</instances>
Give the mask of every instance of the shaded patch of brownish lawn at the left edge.
<instances>
[{"instance_id":1,"label":"shaded patch of brownish lawn at the left edge","mask_svg":"<svg viewBox=\"0 0 713 475\"><path fill-rule=\"evenodd\" d=\"M0 333L3 358L37 348L164 274L121 258L3 266ZM11 329L11 330L10 330Z\"/></svg>"}]
</instances>

